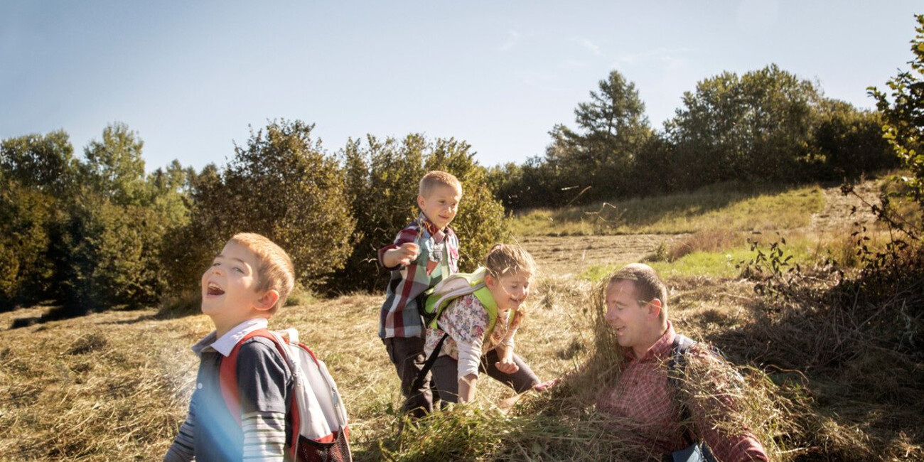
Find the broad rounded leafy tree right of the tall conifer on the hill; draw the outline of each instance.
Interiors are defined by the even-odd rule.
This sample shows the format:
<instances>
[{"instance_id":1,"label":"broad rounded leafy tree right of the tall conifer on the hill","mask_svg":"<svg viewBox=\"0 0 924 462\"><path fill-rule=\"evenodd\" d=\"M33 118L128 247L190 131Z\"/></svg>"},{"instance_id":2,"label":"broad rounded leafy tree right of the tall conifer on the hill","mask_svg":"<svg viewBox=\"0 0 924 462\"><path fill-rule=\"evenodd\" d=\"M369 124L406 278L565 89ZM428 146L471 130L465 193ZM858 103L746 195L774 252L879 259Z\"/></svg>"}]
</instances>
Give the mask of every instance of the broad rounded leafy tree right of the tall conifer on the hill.
<instances>
[{"instance_id":1,"label":"broad rounded leafy tree right of the tall conifer on the hill","mask_svg":"<svg viewBox=\"0 0 924 462\"><path fill-rule=\"evenodd\" d=\"M704 79L666 125L687 188L728 180L792 180L808 158L815 85L776 65Z\"/></svg>"}]
</instances>

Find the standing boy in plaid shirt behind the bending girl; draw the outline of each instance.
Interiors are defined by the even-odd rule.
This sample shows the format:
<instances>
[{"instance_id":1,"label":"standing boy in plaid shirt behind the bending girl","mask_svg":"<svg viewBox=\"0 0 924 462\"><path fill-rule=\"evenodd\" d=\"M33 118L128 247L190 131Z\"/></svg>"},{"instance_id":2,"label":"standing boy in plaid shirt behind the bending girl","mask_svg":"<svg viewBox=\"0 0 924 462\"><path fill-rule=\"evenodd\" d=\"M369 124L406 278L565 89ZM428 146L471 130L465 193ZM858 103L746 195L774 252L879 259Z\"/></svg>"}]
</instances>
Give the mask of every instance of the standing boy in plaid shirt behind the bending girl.
<instances>
[{"instance_id":1,"label":"standing boy in plaid shirt behind the bending girl","mask_svg":"<svg viewBox=\"0 0 924 462\"><path fill-rule=\"evenodd\" d=\"M462 184L456 176L433 171L420 179L417 219L402 229L395 242L379 249L379 262L391 280L379 319L379 336L395 364L405 395L404 411L421 417L433 408L432 380L426 377L411 390L423 368L424 326L418 296L445 276L458 272L459 241L449 223L456 217Z\"/></svg>"}]
</instances>

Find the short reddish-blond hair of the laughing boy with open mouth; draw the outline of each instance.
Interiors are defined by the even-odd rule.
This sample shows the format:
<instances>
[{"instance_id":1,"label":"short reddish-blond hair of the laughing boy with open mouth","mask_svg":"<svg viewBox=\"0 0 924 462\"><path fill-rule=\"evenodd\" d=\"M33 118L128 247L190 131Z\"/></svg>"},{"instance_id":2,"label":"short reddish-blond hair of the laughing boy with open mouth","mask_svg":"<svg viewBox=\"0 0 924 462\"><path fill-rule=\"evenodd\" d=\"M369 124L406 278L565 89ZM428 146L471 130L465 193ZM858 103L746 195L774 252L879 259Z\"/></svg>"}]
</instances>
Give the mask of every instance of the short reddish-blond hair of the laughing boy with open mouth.
<instances>
[{"instance_id":1,"label":"short reddish-blond hair of the laughing boy with open mouth","mask_svg":"<svg viewBox=\"0 0 924 462\"><path fill-rule=\"evenodd\" d=\"M286 250L272 240L257 233L237 233L228 242L244 246L257 256L257 290L275 290L279 299L267 313L275 314L286 304L286 298L295 287L295 266Z\"/></svg>"}]
</instances>

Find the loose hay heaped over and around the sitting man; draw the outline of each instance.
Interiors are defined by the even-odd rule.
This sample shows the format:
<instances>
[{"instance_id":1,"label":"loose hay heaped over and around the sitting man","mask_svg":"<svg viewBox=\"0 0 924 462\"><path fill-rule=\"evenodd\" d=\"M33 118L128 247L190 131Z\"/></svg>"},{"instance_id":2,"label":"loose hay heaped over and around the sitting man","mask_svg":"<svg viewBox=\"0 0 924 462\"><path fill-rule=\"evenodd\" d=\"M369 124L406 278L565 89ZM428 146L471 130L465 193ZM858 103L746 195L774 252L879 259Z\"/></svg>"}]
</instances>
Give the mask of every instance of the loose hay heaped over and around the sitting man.
<instances>
[{"instance_id":1,"label":"loose hay heaped over and around the sitting man","mask_svg":"<svg viewBox=\"0 0 924 462\"><path fill-rule=\"evenodd\" d=\"M638 461L661 455L627 439L630 422L618 421L594 406L597 393L618 378L622 350L603 321L602 287L590 290L583 301L593 308L590 318L592 346L585 361L565 374L562 381L542 394L522 397L509 410L475 403L436 412L418 422L403 422L400 436L389 444L384 458L423 460L573 460ZM700 371L701 372L701 371ZM743 372L743 375L741 374ZM800 432L792 416L806 410L803 402L787 398L766 374L753 368L713 366L711 374L731 374L737 381L740 407L723 421L729 431L741 425L753 429L774 460L790 460L796 451L786 442ZM691 374L692 376L692 374ZM704 387L688 381L689 393L702 394ZM480 400L480 402L483 402Z\"/></svg>"}]
</instances>

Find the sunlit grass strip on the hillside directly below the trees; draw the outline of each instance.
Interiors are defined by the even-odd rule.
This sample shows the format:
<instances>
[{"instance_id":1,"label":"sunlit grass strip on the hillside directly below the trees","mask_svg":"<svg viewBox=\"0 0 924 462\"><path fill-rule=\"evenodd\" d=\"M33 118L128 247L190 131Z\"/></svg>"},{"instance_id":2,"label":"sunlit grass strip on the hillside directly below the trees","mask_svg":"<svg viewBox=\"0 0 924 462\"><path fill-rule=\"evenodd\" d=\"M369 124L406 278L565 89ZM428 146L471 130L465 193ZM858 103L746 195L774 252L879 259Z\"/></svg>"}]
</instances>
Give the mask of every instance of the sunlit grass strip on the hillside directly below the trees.
<instances>
[{"instance_id":1,"label":"sunlit grass strip on the hillside directly below the trees","mask_svg":"<svg viewBox=\"0 0 924 462\"><path fill-rule=\"evenodd\" d=\"M811 214L823 207L824 196L817 185L760 190L710 187L657 198L515 213L511 229L517 236L676 234L717 227L770 231L808 225Z\"/></svg>"}]
</instances>

